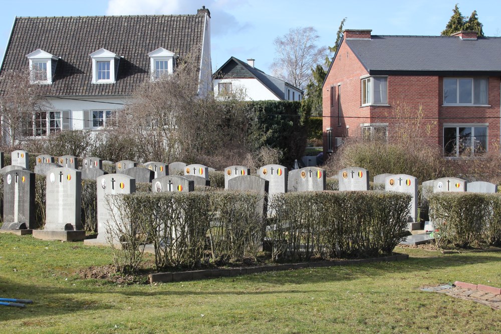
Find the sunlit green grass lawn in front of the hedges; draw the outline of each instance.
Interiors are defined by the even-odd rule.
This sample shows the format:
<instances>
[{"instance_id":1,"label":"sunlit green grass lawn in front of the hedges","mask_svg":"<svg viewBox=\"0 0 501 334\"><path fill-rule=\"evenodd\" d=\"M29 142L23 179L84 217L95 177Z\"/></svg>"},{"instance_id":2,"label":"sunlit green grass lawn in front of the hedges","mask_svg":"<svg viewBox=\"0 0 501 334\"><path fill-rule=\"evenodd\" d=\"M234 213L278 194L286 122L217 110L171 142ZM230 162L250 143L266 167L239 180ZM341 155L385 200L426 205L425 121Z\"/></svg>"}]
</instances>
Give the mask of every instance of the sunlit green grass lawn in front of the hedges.
<instances>
[{"instance_id":1,"label":"sunlit green grass lawn in front of the hedges","mask_svg":"<svg viewBox=\"0 0 501 334\"><path fill-rule=\"evenodd\" d=\"M501 310L420 286L461 280L501 286L501 252L397 248L409 260L158 285L77 277L110 250L0 234L0 332L499 333Z\"/></svg>"}]
</instances>

